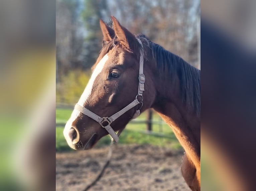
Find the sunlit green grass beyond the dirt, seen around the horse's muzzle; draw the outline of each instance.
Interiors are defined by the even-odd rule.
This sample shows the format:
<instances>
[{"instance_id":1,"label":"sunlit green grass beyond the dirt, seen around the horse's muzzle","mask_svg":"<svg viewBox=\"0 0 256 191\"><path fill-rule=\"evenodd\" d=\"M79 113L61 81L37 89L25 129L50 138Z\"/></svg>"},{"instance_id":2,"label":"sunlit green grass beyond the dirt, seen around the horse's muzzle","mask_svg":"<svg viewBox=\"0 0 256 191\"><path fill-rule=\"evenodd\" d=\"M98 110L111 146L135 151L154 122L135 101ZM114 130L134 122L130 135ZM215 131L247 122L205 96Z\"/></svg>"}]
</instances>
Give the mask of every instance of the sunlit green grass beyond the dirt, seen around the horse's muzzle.
<instances>
[{"instance_id":1,"label":"sunlit green grass beyond the dirt, seen around the horse's muzzle","mask_svg":"<svg viewBox=\"0 0 256 191\"><path fill-rule=\"evenodd\" d=\"M59 122L66 122L72 113L71 109L56 109L56 123ZM146 113L142 113L137 120L145 120ZM157 113L153 114L153 120L159 120L159 116ZM69 148L67 142L63 136L63 126L56 127L56 151L71 151L72 149ZM129 123L127 124L126 128L122 132L119 140L119 144L151 144L157 146L165 146L171 147L173 149L180 149L182 148L181 145L178 143L173 131L167 124L162 125L162 132L159 132L159 125L153 124L152 132L155 133L163 133L166 137L157 137L151 134L145 134L146 124L134 124ZM102 147L110 144L110 137L105 136L101 138L95 147Z\"/></svg>"}]
</instances>

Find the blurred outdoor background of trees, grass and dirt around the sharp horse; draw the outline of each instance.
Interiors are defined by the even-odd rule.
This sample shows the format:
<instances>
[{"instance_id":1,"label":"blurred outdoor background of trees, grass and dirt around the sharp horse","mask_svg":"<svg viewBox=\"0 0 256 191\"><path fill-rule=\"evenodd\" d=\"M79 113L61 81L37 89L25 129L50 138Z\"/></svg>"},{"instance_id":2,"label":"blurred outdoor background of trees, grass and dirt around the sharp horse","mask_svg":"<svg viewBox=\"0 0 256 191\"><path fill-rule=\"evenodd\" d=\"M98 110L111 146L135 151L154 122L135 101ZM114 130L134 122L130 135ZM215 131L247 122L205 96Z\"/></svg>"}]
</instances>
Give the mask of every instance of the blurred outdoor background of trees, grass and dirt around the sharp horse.
<instances>
[{"instance_id":1,"label":"blurred outdoor background of trees, grass and dirt around the sharp horse","mask_svg":"<svg viewBox=\"0 0 256 191\"><path fill-rule=\"evenodd\" d=\"M200 69L199 0L56 0L56 190L83 189L106 160L109 136L90 151L68 153L63 128L102 48L99 20L108 22L111 15L133 34L145 34ZM118 148L112 165L92 190L188 190L179 169L182 147L153 110L126 126ZM172 164L158 164L166 156Z\"/></svg>"}]
</instances>

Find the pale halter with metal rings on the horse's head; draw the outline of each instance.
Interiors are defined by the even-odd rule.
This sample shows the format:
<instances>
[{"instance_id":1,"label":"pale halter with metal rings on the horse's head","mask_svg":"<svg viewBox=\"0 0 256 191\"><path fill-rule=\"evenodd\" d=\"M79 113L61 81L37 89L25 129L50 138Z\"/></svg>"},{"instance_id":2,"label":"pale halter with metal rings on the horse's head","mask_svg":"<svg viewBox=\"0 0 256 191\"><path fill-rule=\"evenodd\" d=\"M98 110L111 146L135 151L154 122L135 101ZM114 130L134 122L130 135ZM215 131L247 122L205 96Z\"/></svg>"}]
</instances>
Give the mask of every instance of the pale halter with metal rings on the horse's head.
<instances>
[{"instance_id":1,"label":"pale halter with metal rings on the horse's head","mask_svg":"<svg viewBox=\"0 0 256 191\"><path fill-rule=\"evenodd\" d=\"M137 39L137 40L139 41L140 45L143 47L142 42L139 39ZM143 74L143 63L144 63L144 53L143 53L143 50L140 50L138 94L136 95L135 99L130 104L128 104L126 107L124 107L120 111L116 112L115 114L111 115L110 117L100 117L100 116L96 115L94 112L90 111L89 109L87 109L87 108L85 108L85 107L83 107L79 104L75 105L76 110L82 112L83 114L87 115L88 117L90 117L90 118L94 119L95 121L97 121L98 123L100 123L100 125L108 131L108 133L115 140L116 143L118 142L119 136L120 136L122 131L119 131L116 134L115 131L110 126L110 124L113 121L115 121L118 117L120 117L122 114L124 114L126 111L128 111L129 109L135 107L136 105L138 105L140 103L141 103L141 107L143 105L143 103L142 103L143 95L142 94L143 94L143 91L144 91L144 83L145 83L145 75ZM141 101L138 100L138 96L141 97ZM141 107L138 110L135 111L132 118L136 118L140 115Z\"/></svg>"}]
</instances>

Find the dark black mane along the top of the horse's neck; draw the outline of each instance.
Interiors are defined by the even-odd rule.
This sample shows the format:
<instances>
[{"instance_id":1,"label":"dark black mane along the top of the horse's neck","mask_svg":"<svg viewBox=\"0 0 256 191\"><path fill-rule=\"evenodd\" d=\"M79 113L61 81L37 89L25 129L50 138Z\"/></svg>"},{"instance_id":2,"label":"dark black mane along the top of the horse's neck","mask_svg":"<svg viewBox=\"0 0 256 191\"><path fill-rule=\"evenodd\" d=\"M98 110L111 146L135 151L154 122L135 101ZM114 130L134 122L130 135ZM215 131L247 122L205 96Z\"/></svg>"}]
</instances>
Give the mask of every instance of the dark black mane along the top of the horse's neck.
<instances>
[{"instance_id":1,"label":"dark black mane along the top of the horse's neck","mask_svg":"<svg viewBox=\"0 0 256 191\"><path fill-rule=\"evenodd\" d=\"M154 59L159 72L167 72L169 76L175 74L178 76L183 102L189 110L200 114L200 70L160 45L151 42L145 35L140 34L136 37L143 42L146 59Z\"/></svg>"}]
</instances>

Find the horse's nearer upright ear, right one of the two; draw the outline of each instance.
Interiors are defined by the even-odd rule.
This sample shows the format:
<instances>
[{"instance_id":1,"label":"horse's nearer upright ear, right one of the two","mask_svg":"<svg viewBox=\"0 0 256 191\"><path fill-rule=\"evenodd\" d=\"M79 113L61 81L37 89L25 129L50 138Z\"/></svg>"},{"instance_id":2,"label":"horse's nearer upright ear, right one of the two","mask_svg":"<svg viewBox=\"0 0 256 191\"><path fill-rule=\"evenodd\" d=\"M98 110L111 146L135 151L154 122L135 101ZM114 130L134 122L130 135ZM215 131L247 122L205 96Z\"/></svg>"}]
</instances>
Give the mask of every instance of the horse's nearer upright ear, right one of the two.
<instances>
[{"instance_id":1,"label":"horse's nearer upright ear, right one of the two","mask_svg":"<svg viewBox=\"0 0 256 191\"><path fill-rule=\"evenodd\" d=\"M133 49L133 45L135 44L134 42L136 42L135 36L125 27L120 25L114 16L111 16L111 19L113 21L113 28L117 36L117 40L120 41L127 49Z\"/></svg>"}]
</instances>

